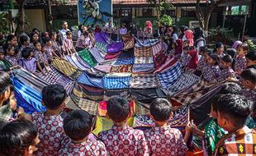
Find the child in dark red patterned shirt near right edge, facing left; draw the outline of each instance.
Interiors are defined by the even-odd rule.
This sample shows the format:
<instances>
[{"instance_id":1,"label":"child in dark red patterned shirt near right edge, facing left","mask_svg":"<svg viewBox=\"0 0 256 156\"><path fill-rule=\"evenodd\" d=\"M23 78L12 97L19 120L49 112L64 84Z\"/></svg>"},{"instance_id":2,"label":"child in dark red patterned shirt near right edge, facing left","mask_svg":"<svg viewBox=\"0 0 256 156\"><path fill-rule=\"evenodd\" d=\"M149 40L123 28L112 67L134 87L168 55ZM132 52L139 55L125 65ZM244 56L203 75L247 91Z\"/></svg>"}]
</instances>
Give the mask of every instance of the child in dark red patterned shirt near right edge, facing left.
<instances>
[{"instance_id":1,"label":"child in dark red patterned shirt near right edge, facing left","mask_svg":"<svg viewBox=\"0 0 256 156\"><path fill-rule=\"evenodd\" d=\"M241 72L246 68L246 58L245 55L248 52L248 44L239 44L237 50L237 57L235 59L235 73L240 76Z\"/></svg>"}]
</instances>

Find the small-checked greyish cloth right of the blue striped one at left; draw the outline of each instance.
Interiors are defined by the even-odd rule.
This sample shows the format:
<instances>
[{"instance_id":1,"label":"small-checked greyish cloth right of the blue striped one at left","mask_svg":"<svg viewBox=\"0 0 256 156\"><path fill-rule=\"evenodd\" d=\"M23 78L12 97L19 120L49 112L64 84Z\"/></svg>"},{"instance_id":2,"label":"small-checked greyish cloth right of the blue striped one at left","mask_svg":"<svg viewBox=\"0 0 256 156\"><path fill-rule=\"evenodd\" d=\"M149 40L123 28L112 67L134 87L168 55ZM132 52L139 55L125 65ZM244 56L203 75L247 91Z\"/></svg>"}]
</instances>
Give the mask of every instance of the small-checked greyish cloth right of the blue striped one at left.
<instances>
[{"instance_id":1,"label":"small-checked greyish cloth right of the blue striped one at left","mask_svg":"<svg viewBox=\"0 0 256 156\"><path fill-rule=\"evenodd\" d=\"M39 77L47 82L50 85L53 84L59 84L64 86L64 89L66 89L67 94L70 94L73 89L74 81L71 80L68 76L64 76L59 71L55 69L55 67L50 67L50 71L45 71L45 75L42 73L39 74Z\"/></svg>"}]
</instances>

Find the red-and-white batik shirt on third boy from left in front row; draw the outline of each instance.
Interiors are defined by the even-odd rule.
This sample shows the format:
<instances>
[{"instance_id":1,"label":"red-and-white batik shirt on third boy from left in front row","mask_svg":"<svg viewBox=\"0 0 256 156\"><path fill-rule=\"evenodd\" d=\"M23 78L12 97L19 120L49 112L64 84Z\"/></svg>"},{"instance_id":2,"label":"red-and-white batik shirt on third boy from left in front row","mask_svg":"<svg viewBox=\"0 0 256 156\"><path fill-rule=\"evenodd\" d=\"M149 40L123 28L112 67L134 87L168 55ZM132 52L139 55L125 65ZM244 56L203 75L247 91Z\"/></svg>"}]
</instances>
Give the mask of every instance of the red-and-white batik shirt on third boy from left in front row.
<instances>
[{"instance_id":1,"label":"red-and-white batik shirt on third boy from left in front row","mask_svg":"<svg viewBox=\"0 0 256 156\"><path fill-rule=\"evenodd\" d=\"M143 131L129 126L112 126L102 131L98 137L104 142L110 155L147 156L149 149Z\"/></svg>"}]
</instances>

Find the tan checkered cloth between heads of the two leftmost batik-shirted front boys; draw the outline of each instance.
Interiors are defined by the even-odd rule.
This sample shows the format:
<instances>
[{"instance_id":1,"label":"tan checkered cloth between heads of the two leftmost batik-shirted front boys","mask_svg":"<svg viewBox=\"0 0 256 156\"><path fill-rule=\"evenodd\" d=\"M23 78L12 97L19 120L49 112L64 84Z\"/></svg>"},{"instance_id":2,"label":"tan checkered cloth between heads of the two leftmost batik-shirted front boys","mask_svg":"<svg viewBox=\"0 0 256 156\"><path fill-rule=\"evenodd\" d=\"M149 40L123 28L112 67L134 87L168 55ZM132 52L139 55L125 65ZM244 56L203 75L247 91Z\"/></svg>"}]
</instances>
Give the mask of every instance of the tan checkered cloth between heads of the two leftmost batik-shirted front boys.
<instances>
[{"instance_id":1,"label":"tan checkered cloth between heads of the two leftmost batik-shirted front boys","mask_svg":"<svg viewBox=\"0 0 256 156\"><path fill-rule=\"evenodd\" d=\"M83 109L86 112L89 112L91 115L97 115L98 103L92 100L79 98L73 94L65 100L66 107L70 109Z\"/></svg>"}]
</instances>

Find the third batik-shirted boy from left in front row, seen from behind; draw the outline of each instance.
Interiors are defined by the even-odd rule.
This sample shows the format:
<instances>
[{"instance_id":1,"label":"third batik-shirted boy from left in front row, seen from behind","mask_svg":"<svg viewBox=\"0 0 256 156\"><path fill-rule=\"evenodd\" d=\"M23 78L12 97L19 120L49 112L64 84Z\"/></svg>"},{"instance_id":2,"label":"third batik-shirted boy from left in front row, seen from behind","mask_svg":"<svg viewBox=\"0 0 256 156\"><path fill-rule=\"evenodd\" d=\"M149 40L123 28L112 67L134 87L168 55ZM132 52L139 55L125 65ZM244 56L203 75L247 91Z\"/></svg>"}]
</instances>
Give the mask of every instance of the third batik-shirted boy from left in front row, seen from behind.
<instances>
[{"instance_id":1,"label":"third batik-shirted boy from left in front row, seen from behind","mask_svg":"<svg viewBox=\"0 0 256 156\"><path fill-rule=\"evenodd\" d=\"M131 116L130 105L124 98L113 96L107 102L107 117L114 122L111 130L102 131L98 137L104 142L110 155L149 155L143 131L127 126Z\"/></svg>"}]
</instances>

